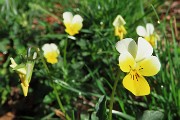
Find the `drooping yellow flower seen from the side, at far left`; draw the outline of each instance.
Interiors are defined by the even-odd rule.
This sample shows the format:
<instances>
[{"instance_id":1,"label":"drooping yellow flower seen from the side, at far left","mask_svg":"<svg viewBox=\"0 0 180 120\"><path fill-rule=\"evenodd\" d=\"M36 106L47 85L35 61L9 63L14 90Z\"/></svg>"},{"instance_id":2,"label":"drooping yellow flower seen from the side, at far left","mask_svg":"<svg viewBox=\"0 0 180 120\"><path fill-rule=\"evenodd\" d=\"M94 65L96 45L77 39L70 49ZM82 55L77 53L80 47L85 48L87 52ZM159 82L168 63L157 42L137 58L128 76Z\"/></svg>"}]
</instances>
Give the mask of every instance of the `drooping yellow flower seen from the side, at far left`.
<instances>
[{"instance_id":1,"label":"drooping yellow flower seen from the side, at far left","mask_svg":"<svg viewBox=\"0 0 180 120\"><path fill-rule=\"evenodd\" d=\"M17 63L14 61L13 58L10 58L11 60L11 65L10 67L15 70L20 78L21 81L21 87L23 90L24 96L27 96L28 93L28 88L29 88L29 83L31 81L31 76L34 68L34 62L33 61L27 61L26 64L22 65L22 67L19 67L16 69L18 66Z\"/></svg>"}]
</instances>

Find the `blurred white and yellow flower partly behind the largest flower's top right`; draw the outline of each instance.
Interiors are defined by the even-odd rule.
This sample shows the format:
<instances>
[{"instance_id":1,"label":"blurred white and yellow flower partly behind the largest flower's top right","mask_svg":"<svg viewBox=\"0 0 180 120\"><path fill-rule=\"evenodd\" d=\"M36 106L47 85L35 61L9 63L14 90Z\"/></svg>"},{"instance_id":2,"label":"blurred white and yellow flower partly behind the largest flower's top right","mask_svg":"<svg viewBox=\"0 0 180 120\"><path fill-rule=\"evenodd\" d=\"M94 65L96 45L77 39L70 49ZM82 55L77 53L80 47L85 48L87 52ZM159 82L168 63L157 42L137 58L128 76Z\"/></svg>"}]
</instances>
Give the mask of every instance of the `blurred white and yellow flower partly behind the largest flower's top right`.
<instances>
[{"instance_id":1,"label":"blurred white and yellow flower partly behind the largest flower's top right","mask_svg":"<svg viewBox=\"0 0 180 120\"><path fill-rule=\"evenodd\" d=\"M136 32L139 36L144 37L153 47L157 46L158 35L154 33L154 26L151 23L146 24L146 28L138 26Z\"/></svg>"}]
</instances>

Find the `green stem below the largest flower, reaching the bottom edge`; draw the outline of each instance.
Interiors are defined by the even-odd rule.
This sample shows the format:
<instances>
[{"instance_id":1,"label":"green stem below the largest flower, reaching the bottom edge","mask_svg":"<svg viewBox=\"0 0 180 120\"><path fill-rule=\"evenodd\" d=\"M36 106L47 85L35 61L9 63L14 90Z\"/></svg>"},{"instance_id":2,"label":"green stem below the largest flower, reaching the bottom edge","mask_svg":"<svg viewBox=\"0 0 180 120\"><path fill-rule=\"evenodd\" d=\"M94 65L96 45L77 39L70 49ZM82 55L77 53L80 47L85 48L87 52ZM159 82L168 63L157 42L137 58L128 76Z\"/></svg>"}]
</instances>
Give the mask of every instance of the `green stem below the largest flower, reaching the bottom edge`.
<instances>
[{"instance_id":1,"label":"green stem below the largest flower, reaching the bottom edge","mask_svg":"<svg viewBox=\"0 0 180 120\"><path fill-rule=\"evenodd\" d=\"M112 93L111 93L110 105L109 105L109 120L112 120L112 109L113 109L113 102L114 102L114 94L115 94L115 91L116 91L118 80L119 79L116 78L114 86L113 86L113 90L112 90Z\"/></svg>"}]
</instances>

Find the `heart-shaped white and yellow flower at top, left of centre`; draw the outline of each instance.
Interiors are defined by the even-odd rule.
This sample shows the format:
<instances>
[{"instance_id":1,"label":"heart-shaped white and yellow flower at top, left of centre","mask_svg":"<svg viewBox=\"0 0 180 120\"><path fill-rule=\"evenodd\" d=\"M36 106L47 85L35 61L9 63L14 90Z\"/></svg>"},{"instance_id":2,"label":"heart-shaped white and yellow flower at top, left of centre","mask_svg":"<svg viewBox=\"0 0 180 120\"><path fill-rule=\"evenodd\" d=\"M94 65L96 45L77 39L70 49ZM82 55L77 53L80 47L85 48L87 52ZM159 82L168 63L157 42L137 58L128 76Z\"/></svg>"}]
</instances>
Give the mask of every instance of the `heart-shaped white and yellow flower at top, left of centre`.
<instances>
[{"instance_id":1,"label":"heart-shaped white and yellow flower at top, left of centre","mask_svg":"<svg viewBox=\"0 0 180 120\"><path fill-rule=\"evenodd\" d=\"M75 16L73 16L71 12L64 12L63 19L63 23L66 27L65 31L69 35L73 36L79 33L83 26L83 18L80 15L76 14Z\"/></svg>"}]
</instances>

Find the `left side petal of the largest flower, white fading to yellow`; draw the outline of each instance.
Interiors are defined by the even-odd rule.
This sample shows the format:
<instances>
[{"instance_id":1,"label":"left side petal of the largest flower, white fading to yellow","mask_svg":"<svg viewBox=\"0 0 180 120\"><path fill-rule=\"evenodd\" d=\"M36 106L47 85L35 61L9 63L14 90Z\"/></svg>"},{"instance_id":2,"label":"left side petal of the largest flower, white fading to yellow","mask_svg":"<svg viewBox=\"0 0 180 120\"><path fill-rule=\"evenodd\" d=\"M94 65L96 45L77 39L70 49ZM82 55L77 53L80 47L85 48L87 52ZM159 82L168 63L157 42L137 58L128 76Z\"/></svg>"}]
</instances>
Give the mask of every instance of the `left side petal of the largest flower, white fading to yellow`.
<instances>
[{"instance_id":1,"label":"left side petal of the largest flower, white fading to yellow","mask_svg":"<svg viewBox=\"0 0 180 120\"><path fill-rule=\"evenodd\" d=\"M119 56L119 66L123 72L129 72L135 64L135 60L130 53L126 52Z\"/></svg>"}]
</instances>

